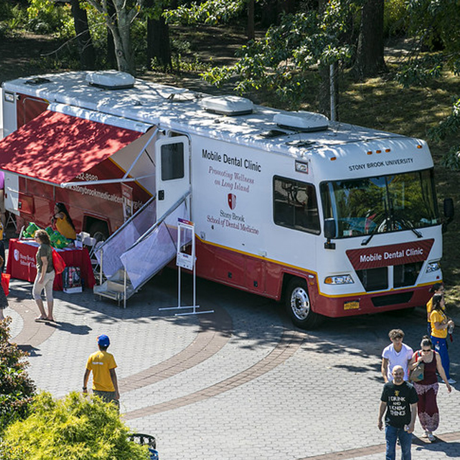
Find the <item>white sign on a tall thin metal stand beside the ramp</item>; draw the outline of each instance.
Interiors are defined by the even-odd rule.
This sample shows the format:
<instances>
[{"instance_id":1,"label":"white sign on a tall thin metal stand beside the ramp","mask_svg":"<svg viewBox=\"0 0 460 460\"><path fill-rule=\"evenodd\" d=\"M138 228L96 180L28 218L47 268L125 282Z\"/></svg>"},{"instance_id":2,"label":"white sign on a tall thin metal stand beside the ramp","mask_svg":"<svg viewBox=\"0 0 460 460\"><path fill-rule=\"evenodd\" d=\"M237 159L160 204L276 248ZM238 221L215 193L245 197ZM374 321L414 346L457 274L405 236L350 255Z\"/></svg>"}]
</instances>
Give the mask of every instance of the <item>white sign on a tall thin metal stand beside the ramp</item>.
<instances>
[{"instance_id":1,"label":"white sign on a tall thin metal stand beside the ramp","mask_svg":"<svg viewBox=\"0 0 460 460\"><path fill-rule=\"evenodd\" d=\"M191 243L190 246L188 243ZM190 250L190 254L186 252ZM192 308L191 312L187 313L176 313L175 316L185 316L186 314L202 314L202 313L214 313L214 310L207 310L206 312L197 312L197 274L195 270L195 232L194 223L187 221L186 219L177 219L177 277L178 277L178 294L177 294L177 307L166 307L159 308L159 310L182 310L186 308ZM186 268L187 270L193 270L193 305L192 306L181 306L181 269Z\"/></svg>"}]
</instances>

